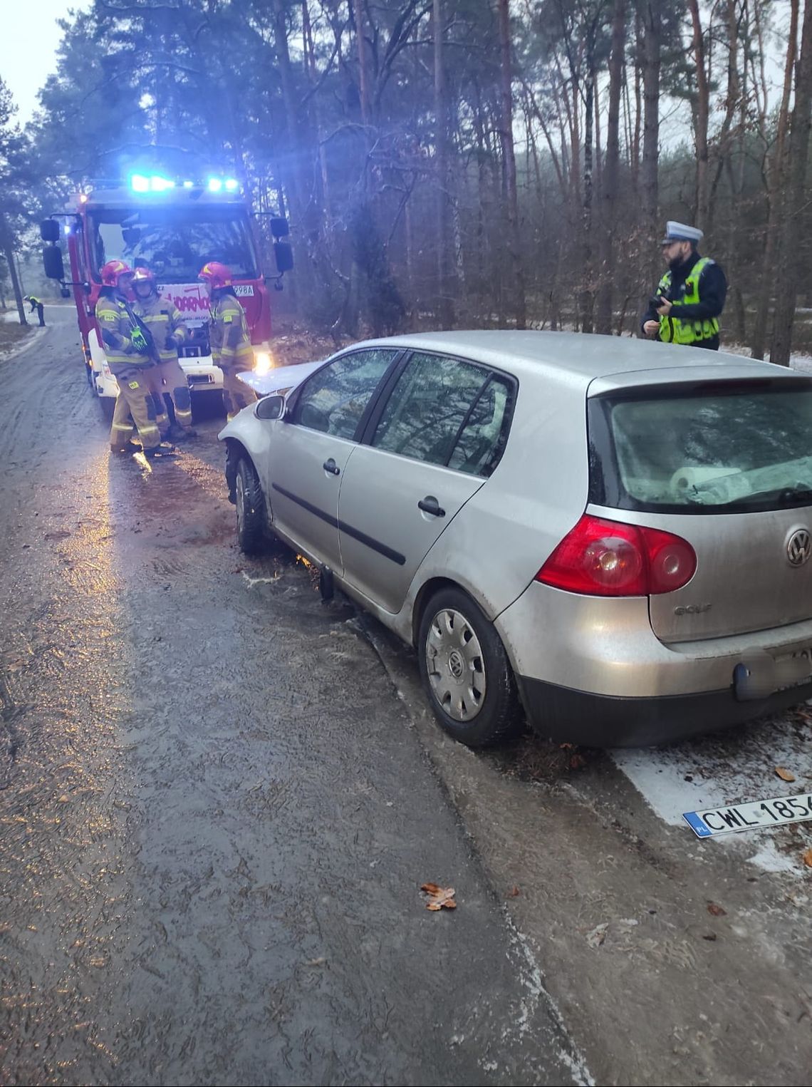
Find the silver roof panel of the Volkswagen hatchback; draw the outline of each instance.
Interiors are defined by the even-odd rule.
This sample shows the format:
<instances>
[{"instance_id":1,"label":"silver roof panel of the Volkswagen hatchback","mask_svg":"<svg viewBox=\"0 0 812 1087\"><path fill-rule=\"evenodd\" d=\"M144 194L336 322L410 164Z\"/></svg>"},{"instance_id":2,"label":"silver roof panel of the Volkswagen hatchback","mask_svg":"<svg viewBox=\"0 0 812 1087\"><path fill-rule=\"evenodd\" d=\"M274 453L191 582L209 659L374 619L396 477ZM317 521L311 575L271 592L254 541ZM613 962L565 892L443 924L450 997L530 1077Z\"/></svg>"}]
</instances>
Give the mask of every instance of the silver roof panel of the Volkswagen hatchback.
<instances>
[{"instance_id":1,"label":"silver roof panel of the Volkswagen hatchback","mask_svg":"<svg viewBox=\"0 0 812 1087\"><path fill-rule=\"evenodd\" d=\"M636 385L665 379L673 382L682 377L798 376L786 366L759 362L744 355L659 343L630 336L511 329L416 333L367 340L363 345L353 345L350 350L361 346L439 351L462 355L472 362L507 371L520 378L538 375L551 380L574 380L584 386L596 378L609 377L619 378L612 385ZM719 373L720 368L724 370L723 374ZM700 370L706 371L706 374L700 374ZM670 373L667 374L667 371Z\"/></svg>"}]
</instances>

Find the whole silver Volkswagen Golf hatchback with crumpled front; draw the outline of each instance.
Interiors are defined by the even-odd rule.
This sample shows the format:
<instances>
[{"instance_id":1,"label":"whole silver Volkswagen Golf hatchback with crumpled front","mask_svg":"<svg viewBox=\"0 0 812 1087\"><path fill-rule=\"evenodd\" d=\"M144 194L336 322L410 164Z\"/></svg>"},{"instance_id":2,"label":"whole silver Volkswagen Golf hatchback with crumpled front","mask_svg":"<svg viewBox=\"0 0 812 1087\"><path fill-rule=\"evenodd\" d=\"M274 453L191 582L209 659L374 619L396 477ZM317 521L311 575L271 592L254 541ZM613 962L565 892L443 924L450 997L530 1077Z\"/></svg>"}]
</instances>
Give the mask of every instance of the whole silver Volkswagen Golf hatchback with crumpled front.
<instances>
[{"instance_id":1,"label":"whole silver Volkswagen Golf hatchback with crumpled front","mask_svg":"<svg viewBox=\"0 0 812 1087\"><path fill-rule=\"evenodd\" d=\"M523 708L647 745L812 697L812 378L532 332L305 370L220 434L240 546L275 534L414 645L456 739Z\"/></svg>"}]
</instances>

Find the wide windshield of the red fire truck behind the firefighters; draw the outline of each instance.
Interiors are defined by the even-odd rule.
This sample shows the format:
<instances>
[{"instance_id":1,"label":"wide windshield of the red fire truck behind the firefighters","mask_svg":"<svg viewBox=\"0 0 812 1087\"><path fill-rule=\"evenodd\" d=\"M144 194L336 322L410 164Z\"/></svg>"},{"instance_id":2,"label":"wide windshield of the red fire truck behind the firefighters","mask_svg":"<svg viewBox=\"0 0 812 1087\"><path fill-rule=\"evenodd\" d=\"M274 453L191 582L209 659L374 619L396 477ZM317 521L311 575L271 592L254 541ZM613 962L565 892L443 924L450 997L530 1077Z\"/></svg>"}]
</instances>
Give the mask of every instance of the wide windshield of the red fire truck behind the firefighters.
<instances>
[{"instance_id":1,"label":"wide windshield of the red fire truck behind the firefighters","mask_svg":"<svg viewBox=\"0 0 812 1087\"><path fill-rule=\"evenodd\" d=\"M194 283L206 261L255 279L248 214L234 208L99 208L89 210L93 277L109 260L147 264L162 283Z\"/></svg>"}]
</instances>

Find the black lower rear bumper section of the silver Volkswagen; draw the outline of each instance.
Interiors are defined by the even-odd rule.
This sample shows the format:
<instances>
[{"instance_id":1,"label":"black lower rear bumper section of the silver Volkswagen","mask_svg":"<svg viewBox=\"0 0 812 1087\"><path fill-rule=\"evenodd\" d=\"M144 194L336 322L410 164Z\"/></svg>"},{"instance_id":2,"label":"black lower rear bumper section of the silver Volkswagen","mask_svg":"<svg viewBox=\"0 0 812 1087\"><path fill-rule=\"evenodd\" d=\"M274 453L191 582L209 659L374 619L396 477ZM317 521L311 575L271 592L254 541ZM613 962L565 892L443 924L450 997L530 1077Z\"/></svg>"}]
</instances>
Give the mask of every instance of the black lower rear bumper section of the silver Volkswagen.
<instances>
[{"instance_id":1,"label":"black lower rear bumper section of the silver Volkswagen","mask_svg":"<svg viewBox=\"0 0 812 1087\"><path fill-rule=\"evenodd\" d=\"M812 698L812 683L767 698L739 701L733 684L699 695L622 698L558 687L517 676L534 732L554 740L586 747L648 747L687 739L753 717L776 713Z\"/></svg>"}]
</instances>

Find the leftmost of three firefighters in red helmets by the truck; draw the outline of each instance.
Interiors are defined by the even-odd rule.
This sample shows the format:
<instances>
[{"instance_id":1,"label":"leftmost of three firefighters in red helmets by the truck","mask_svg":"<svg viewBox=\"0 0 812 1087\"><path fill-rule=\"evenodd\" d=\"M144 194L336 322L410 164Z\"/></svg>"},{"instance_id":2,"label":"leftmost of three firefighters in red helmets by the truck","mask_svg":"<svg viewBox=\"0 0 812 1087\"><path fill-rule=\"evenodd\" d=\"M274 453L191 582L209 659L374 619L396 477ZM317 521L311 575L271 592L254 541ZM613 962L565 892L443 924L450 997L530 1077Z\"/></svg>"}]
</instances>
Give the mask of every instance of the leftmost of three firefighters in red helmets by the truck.
<instances>
[{"instance_id":1,"label":"leftmost of three firefighters in red helmets by the truck","mask_svg":"<svg viewBox=\"0 0 812 1087\"><path fill-rule=\"evenodd\" d=\"M153 459L169 454L172 447L161 443L148 376L155 363L150 358L149 340L127 300L131 278L132 272L124 261L107 261L101 270L102 289L96 303L107 364L118 382L110 448L114 453L126 452L135 423L144 454Z\"/></svg>"}]
</instances>

